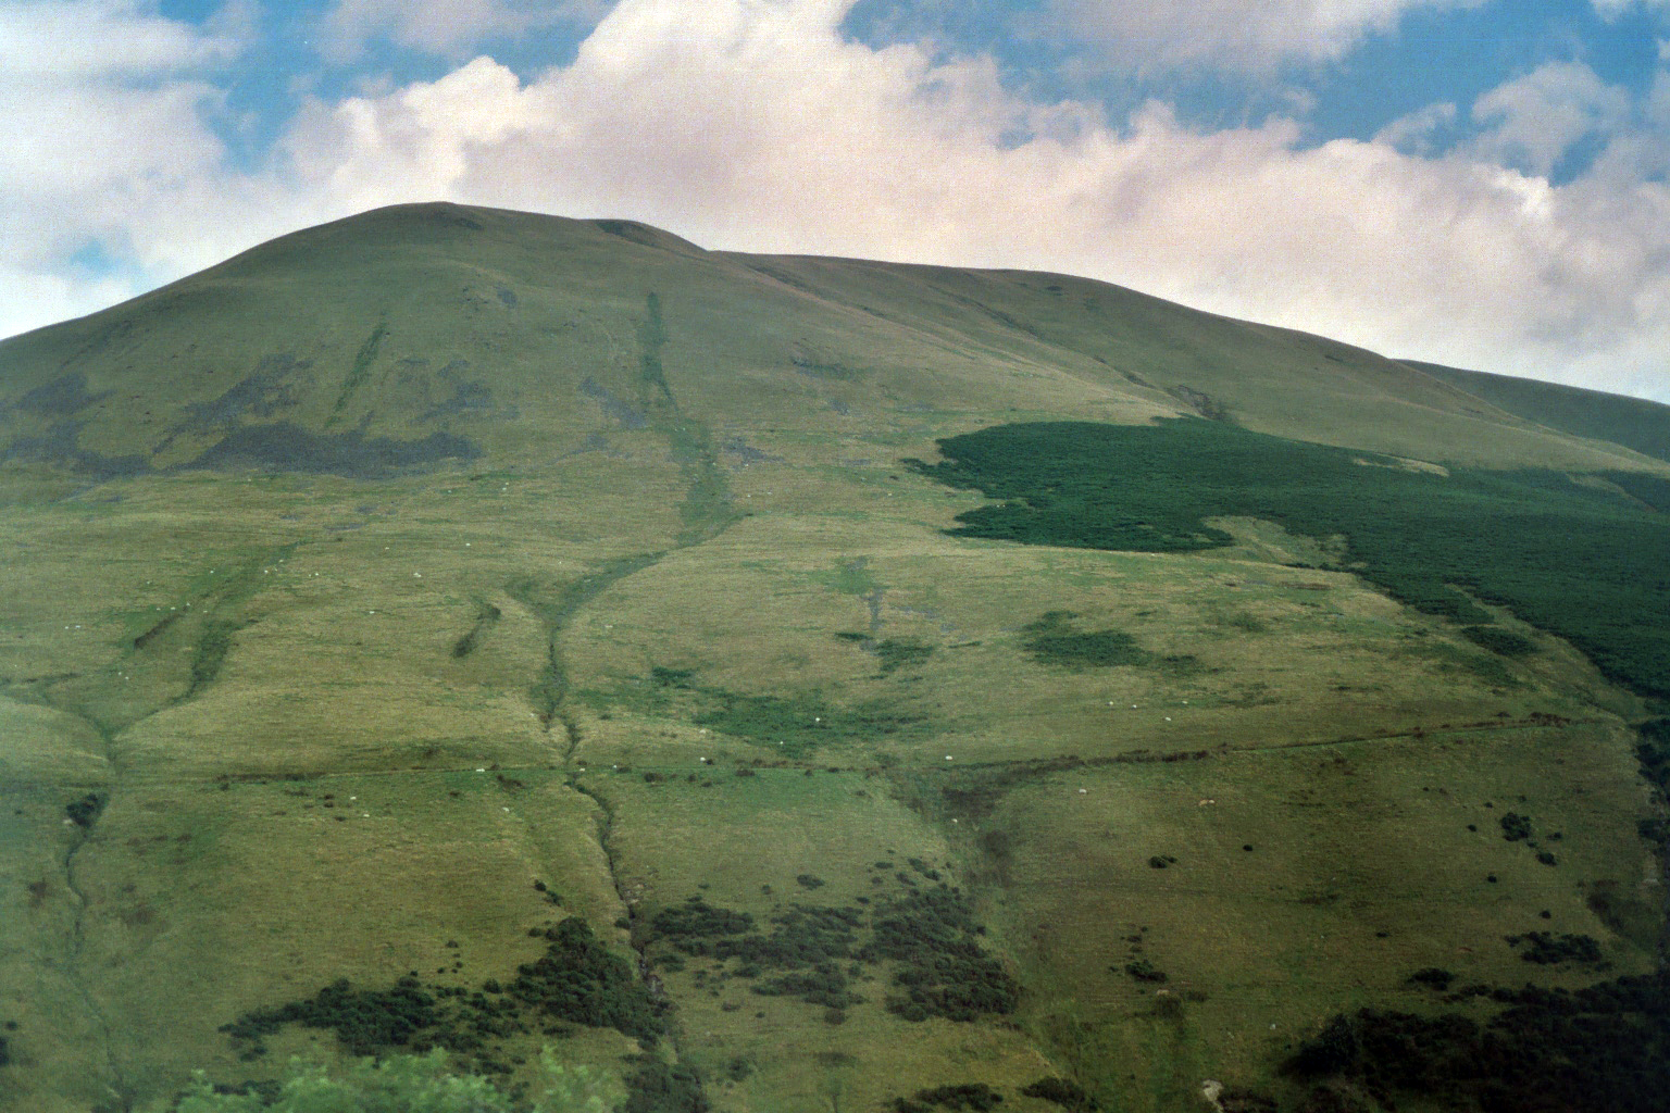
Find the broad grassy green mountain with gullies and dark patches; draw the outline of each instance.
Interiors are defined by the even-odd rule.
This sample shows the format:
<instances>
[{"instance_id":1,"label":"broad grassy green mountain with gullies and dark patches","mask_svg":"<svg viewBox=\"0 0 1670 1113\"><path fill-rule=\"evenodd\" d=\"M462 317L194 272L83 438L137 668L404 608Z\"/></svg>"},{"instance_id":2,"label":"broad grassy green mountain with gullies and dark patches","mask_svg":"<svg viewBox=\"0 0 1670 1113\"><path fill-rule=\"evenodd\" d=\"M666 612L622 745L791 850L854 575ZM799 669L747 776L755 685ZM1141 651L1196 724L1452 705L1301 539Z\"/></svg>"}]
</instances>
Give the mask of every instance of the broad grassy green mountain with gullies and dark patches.
<instances>
[{"instance_id":1,"label":"broad grassy green mountain with gullies and dark patches","mask_svg":"<svg viewBox=\"0 0 1670 1113\"><path fill-rule=\"evenodd\" d=\"M551 1045L631 1110L1635 1108L1667 444L448 204L15 337L0 1106Z\"/></svg>"}]
</instances>

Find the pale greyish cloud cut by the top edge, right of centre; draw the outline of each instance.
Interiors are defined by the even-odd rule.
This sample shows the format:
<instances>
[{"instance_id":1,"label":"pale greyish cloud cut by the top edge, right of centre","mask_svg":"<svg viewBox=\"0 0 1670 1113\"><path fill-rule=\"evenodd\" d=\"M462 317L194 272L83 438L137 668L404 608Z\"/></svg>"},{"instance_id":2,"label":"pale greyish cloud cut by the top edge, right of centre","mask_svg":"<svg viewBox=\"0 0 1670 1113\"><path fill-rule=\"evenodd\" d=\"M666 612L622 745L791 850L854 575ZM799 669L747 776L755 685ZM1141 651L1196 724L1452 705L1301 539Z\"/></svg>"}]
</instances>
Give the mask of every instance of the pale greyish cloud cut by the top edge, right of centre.
<instances>
[{"instance_id":1,"label":"pale greyish cloud cut by the top edge, right of centre","mask_svg":"<svg viewBox=\"0 0 1670 1113\"><path fill-rule=\"evenodd\" d=\"M1221 65L1266 72L1281 62L1343 57L1416 8L1470 8L1485 0L1050 0L1060 33L1122 65Z\"/></svg>"}]
</instances>

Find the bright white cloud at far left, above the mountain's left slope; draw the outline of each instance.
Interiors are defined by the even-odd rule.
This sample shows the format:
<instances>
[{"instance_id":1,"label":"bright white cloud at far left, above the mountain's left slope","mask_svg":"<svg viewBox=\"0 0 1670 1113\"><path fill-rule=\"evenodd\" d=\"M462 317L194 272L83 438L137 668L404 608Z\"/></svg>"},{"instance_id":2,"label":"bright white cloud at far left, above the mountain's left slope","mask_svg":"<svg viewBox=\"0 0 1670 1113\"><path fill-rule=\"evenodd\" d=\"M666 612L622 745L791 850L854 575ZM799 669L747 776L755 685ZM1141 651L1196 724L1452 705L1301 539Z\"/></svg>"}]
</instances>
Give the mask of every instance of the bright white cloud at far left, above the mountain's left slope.
<instances>
[{"instance_id":1,"label":"bright white cloud at far left, above the mountain's left slope","mask_svg":"<svg viewBox=\"0 0 1670 1113\"><path fill-rule=\"evenodd\" d=\"M172 197L219 174L224 147L205 117L222 93L207 78L247 47L252 22L245 3L205 25L140 0L0 3L0 257L10 292L0 330L109 302L115 279L77 275L67 262L90 244L120 245L139 270L177 262L144 229Z\"/></svg>"}]
</instances>

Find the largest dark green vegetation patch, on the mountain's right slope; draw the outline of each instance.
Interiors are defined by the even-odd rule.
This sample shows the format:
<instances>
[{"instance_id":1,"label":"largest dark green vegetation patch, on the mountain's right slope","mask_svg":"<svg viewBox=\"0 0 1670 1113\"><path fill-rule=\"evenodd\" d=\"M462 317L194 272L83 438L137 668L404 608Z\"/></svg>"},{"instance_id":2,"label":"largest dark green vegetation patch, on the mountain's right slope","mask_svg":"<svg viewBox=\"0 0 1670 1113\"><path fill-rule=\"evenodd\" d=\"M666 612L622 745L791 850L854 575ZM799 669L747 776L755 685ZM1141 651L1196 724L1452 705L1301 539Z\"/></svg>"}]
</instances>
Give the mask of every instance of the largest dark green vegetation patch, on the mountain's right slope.
<instances>
[{"instance_id":1,"label":"largest dark green vegetation patch, on the mountain's right slope","mask_svg":"<svg viewBox=\"0 0 1670 1113\"><path fill-rule=\"evenodd\" d=\"M1246 516L1344 536L1343 564L1408 606L1488 624L1465 587L1571 641L1610 679L1670 698L1670 517L1561 472L1364 467L1363 452L1197 419L997 426L940 452L912 466L997 501L960 514L955 534L1192 552L1231 541L1207 519Z\"/></svg>"}]
</instances>

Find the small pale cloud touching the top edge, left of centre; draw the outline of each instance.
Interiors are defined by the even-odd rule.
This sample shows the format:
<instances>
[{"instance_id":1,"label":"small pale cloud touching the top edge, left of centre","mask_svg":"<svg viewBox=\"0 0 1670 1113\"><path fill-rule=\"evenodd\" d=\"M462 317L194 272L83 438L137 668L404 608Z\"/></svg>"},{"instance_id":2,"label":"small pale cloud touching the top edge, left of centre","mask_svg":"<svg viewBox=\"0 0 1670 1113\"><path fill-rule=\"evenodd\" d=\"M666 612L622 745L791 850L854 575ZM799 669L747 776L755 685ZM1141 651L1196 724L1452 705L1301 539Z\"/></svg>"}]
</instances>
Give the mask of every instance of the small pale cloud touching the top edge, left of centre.
<instances>
[{"instance_id":1,"label":"small pale cloud touching the top edge, left of centre","mask_svg":"<svg viewBox=\"0 0 1670 1113\"><path fill-rule=\"evenodd\" d=\"M336 0L319 23L321 50L334 62L359 57L369 38L458 57L491 35L521 35L563 22L595 22L608 0Z\"/></svg>"}]
</instances>

